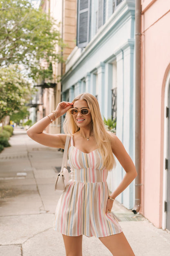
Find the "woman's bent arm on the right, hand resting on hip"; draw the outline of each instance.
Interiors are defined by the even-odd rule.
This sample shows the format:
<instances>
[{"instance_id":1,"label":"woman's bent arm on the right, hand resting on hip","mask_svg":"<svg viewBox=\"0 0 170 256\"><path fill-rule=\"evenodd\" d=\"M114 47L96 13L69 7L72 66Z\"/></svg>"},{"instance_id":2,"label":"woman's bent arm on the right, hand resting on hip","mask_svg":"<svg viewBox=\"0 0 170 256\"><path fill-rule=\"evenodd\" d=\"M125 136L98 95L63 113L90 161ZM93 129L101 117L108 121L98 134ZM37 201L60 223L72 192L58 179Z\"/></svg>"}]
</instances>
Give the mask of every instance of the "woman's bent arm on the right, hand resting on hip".
<instances>
[{"instance_id":1,"label":"woman's bent arm on the right, hand resting on hip","mask_svg":"<svg viewBox=\"0 0 170 256\"><path fill-rule=\"evenodd\" d=\"M119 186L112 192L112 194L110 194L110 197L115 199L136 178L137 172L132 159L130 158L129 154L125 150L125 147L123 146L119 138L117 138L117 136L114 134L111 135L111 145L112 145L112 152L114 153L119 163L122 165L123 169L126 172ZM112 209L112 205L113 205L113 201L111 199L108 199L106 212Z\"/></svg>"}]
</instances>

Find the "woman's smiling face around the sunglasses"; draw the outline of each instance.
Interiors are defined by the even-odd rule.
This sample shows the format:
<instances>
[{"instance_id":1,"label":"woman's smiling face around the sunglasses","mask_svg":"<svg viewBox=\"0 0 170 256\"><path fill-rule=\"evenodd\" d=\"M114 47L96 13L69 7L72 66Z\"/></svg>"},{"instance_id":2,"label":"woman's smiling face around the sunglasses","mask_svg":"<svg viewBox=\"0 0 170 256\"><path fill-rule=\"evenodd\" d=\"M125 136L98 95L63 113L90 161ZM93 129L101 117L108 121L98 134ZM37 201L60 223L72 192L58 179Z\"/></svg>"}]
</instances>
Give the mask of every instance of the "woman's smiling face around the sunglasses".
<instances>
[{"instance_id":1,"label":"woman's smiling face around the sunglasses","mask_svg":"<svg viewBox=\"0 0 170 256\"><path fill-rule=\"evenodd\" d=\"M73 105L74 108L81 110L83 108L88 108L87 102L85 100L76 100ZM89 113L88 115L82 115L81 111L77 113L77 115L73 116L74 121L78 127L88 127L91 128L92 125L92 115Z\"/></svg>"}]
</instances>

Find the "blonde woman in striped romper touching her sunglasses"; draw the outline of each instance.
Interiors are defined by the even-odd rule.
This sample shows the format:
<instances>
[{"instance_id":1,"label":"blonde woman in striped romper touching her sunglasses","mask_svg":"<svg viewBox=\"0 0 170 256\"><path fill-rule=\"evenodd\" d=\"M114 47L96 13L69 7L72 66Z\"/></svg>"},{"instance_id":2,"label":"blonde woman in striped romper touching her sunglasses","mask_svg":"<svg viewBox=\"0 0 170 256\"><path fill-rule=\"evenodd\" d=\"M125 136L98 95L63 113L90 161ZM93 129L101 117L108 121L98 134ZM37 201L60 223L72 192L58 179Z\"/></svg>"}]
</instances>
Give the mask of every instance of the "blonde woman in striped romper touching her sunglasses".
<instances>
[{"instance_id":1,"label":"blonde woman in striped romper touching her sunglasses","mask_svg":"<svg viewBox=\"0 0 170 256\"><path fill-rule=\"evenodd\" d=\"M43 133L55 118L65 113L65 134ZM54 229L63 234L66 256L82 256L83 234L98 237L114 256L134 256L111 210L114 199L136 177L136 169L121 141L106 131L96 98L83 93L73 102L60 102L27 134L40 144L58 148L65 147L66 134L71 134L71 179L60 196L54 219ZM115 166L113 153L126 174L109 195L106 178Z\"/></svg>"}]
</instances>

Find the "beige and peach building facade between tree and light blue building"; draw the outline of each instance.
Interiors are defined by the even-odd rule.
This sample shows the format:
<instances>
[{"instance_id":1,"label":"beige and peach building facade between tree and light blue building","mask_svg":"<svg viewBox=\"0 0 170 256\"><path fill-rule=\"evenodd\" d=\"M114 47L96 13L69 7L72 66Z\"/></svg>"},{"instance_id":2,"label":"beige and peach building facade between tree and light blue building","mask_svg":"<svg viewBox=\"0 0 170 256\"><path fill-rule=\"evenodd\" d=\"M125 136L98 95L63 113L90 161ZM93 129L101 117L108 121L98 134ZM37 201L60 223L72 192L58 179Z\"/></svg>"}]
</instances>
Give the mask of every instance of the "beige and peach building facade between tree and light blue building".
<instances>
[{"instance_id":1,"label":"beige and peach building facade between tree and light blue building","mask_svg":"<svg viewBox=\"0 0 170 256\"><path fill-rule=\"evenodd\" d=\"M76 0L44 0L41 7L45 13L49 14L56 20L65 47L63 49L56 48L56 52L63 50L63 59L66 60L69 54L76 46ZM40 97L42 105L39 105L37 111L37 120L51 113L61 102L62 84L60 78L65 72L65 63L54 63L52 86L41 87ZM52 122L45 130L50 134L61 132L61 118Z\"/></svg>"}]
</instances>

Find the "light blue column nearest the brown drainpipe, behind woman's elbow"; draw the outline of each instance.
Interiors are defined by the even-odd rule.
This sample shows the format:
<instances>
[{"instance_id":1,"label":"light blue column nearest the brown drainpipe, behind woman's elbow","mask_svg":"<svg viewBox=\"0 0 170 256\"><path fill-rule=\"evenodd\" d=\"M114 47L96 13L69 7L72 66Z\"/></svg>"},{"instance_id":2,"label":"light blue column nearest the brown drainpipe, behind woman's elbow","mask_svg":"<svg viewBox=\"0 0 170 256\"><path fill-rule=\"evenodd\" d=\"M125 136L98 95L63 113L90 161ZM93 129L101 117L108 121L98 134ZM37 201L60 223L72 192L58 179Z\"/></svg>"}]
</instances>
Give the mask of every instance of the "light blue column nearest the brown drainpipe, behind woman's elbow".
<instances>
[{"instance_id":1,"label":"light blue column nearest the brown drainpipe, behind woman's elbow","mask_svg":"<svg viewBox=\"0 0 170 256\"><path fill-rule=\"evenodd\" d=\"M123 50L124 53L124 104L123 104L123 145L132 158L135 160L135 102L134 102L134 44ZM125 172L124 172L125 174ZM134 181L123 193L123 205L127 208L134 206Z\"/></svg>"}]
</instances>

